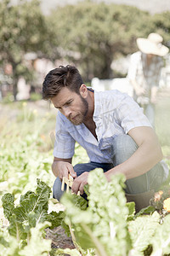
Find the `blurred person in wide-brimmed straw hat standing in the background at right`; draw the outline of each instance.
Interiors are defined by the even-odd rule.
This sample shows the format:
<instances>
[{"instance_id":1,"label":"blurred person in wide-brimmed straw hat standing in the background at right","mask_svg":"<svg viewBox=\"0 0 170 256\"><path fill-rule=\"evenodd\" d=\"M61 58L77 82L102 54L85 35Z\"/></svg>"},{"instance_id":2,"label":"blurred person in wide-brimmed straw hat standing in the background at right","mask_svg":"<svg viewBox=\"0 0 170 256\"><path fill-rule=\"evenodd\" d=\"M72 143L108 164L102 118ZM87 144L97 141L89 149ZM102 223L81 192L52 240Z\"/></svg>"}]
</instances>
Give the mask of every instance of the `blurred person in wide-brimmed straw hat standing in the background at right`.
<instances>
[{"instance_id":1,"label":"blurred person in wide-brimmed straw hat standing in the background at right","mask_svg":"<svg viewBox=\"0 0 170 256\"><path fill-rule=\"evenodd\" d=\"M162 57L168 48L161 44L163 38L157 33L150 33L148 38L137 38L139 51L131 55L127 77L133 85L134 100L144 108L144 113L155 126L155 104L159 87Z\"/></svg>"}]
</instances>

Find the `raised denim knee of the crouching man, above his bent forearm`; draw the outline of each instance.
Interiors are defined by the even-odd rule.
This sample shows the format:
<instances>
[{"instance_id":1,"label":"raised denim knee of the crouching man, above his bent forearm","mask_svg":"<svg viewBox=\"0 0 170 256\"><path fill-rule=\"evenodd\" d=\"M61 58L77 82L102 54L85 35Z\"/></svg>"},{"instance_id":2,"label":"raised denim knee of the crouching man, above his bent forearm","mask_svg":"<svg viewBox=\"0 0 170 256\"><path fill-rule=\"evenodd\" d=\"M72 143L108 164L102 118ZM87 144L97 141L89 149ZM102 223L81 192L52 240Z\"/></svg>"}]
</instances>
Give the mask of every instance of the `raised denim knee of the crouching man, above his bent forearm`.
<instances>
[{"instance_id":1,"label":"raised denim knee of the crouching man, above his bent forearm","mask_svg":"<svg viewBox=\"0 0 170 256\"><path fill-rule=\"evenodd\" d=\"M127 134L123 134L114 139L112 145L111 158L113 165L117 166L127 160L138 148L138 145L133 141L133 138Z\"/></svg>"}]
</instances>

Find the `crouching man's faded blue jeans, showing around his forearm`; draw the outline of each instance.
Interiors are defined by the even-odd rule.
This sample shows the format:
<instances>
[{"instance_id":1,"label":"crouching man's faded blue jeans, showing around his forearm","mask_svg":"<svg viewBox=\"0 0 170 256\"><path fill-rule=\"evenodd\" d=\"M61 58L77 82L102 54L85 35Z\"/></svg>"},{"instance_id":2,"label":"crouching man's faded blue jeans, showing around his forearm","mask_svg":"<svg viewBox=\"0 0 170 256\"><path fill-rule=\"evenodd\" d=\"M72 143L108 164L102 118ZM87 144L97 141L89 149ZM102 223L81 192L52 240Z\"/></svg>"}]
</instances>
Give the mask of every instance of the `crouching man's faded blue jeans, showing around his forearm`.
<instances>
[{"instance_id":1,"label":"crouching man's faded blue jeans, showing around his forearm","mask_svg":"<svg viewBox=\"0 0 170 256\"><path fill-rule=\"evenodd\" d=\"M77 164L74 166L77 176L80 176L83 172L90 172L95 168L102 168L104 172L109 171L113 166L118 166L127 160L136 150L138 146L133 141L133 138L128 135L121 135L116 137L112 143L112 163L96 163L89 162L85 164ZM161 183L166 180L166 175L161 163L156 164L149 172L140 175L139 177L133 177L126 181L125 192L127 194L138 194L149 191L151 189L158 189ZM61 191L61 182L59 177L56 178L53 187L53 196L57 200L63 195Z\"/></svg>"}]
</instances>

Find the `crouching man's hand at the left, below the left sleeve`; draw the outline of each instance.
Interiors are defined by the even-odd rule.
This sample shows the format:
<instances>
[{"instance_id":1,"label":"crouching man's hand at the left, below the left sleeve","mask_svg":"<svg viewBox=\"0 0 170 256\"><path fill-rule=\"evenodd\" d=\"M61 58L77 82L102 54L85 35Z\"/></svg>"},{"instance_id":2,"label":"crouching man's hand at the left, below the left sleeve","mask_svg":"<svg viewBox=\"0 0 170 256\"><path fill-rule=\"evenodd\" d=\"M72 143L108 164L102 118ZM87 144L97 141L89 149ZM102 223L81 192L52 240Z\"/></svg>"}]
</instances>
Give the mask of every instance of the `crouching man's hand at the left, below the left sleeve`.
<instances>
[{"instance_id":1,"label":"crouching man's hand at the left, below the left sleeve","mask_svg":"<svg viewBox=\"0 0 170 256\"><path fill-rule=\"evenodd\" d=\"M60 178L60 180L62 180L63 177L68 178L69 173L71 177L77 177L77 172L74 171L73 166L71 165L71 159L64 160L55 157L52 165L52 171L56 177Z\"/></svg>"}]
</instances>

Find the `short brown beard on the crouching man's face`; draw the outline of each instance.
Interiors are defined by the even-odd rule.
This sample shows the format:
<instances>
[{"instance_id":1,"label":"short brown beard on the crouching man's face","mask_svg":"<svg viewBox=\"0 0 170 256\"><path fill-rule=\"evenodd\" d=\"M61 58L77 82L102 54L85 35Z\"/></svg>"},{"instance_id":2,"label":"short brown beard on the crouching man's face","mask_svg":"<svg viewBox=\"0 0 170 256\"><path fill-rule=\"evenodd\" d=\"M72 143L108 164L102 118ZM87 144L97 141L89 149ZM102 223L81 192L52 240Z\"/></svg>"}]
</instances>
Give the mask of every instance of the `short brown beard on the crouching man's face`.
<instances>
[{"instance_id":1,"label":"short brown beard on the crouching man's face","mask_svg":"<svg viewBox=\"0 0 170 256\"><path fill-rule=\"evenodd\" d=\"M87 100L82 98L82 96L81 96L81 100L82 100L81 112L77 113L77 115L73 119L71 117L68 118L73 125L81 125L83 123L84 119L86 118L87 113L88 113L88 102L87 102Z\"/></svg>"}]
</instances>

